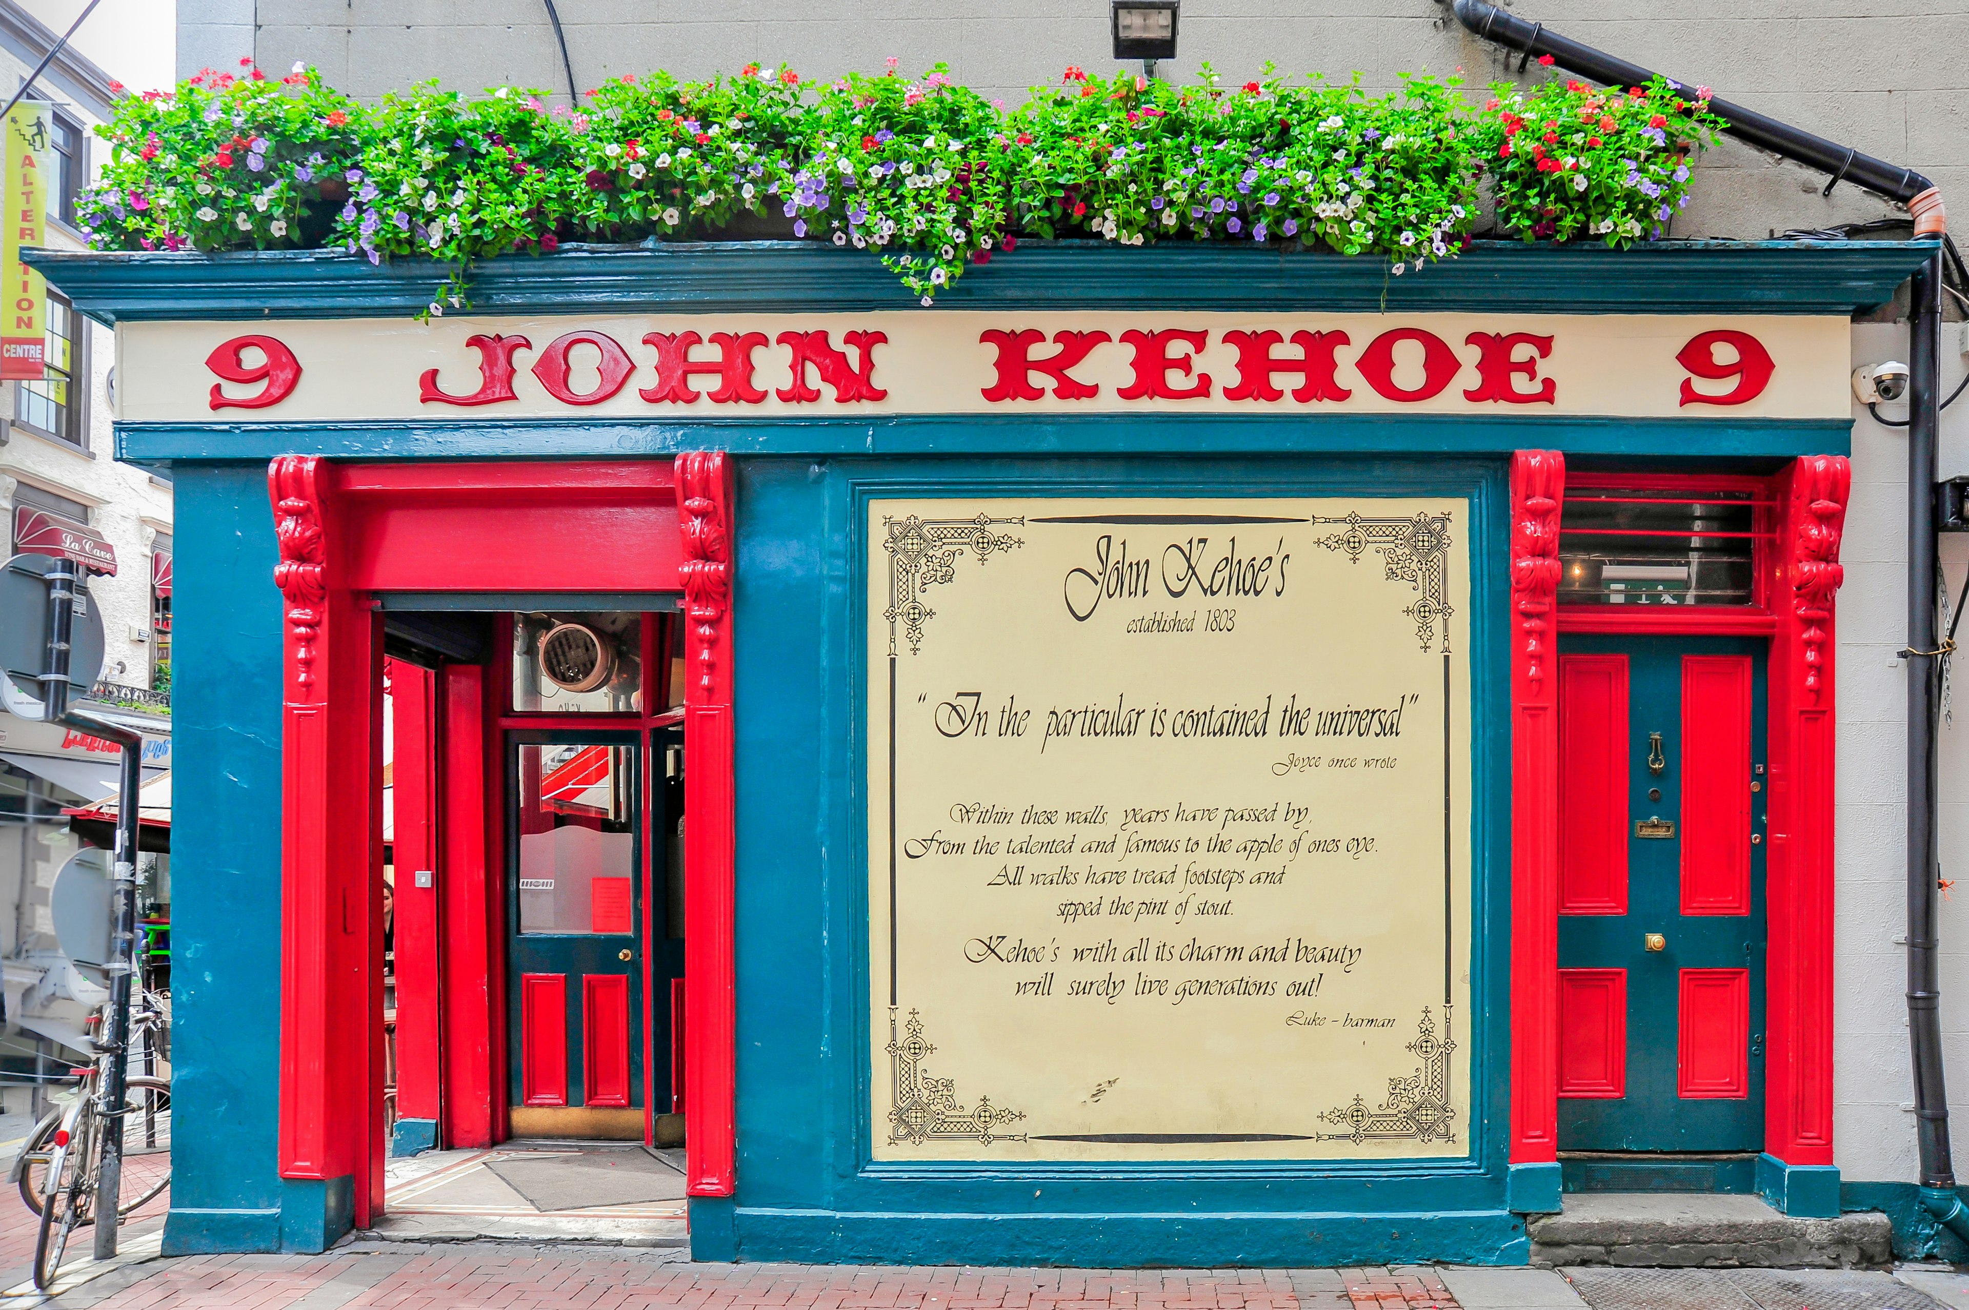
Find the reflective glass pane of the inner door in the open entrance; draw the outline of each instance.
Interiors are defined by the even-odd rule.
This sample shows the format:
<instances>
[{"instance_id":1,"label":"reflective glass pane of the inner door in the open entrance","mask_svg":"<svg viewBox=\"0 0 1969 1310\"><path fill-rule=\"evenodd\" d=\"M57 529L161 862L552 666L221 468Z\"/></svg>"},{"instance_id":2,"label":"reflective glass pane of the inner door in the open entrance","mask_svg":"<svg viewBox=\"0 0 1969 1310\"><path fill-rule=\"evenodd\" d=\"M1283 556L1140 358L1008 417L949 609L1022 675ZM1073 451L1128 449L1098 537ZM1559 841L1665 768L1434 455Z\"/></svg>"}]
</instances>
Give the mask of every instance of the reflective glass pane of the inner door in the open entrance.
<instances>
[{"instance_id":1,"label":"reflective glass pane of the inner door in the open entrance","mask_svg":"<svg viewBox=\"0 0 1969 1310\"><path fill-rule=\"evenodd\" d=\"M634 932L634 747L520 747L520 932Z\"/></svg>"}]
</instances>

